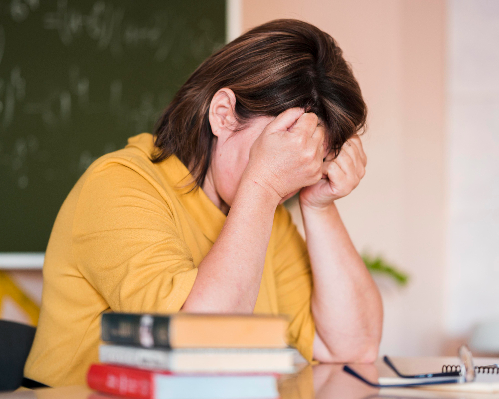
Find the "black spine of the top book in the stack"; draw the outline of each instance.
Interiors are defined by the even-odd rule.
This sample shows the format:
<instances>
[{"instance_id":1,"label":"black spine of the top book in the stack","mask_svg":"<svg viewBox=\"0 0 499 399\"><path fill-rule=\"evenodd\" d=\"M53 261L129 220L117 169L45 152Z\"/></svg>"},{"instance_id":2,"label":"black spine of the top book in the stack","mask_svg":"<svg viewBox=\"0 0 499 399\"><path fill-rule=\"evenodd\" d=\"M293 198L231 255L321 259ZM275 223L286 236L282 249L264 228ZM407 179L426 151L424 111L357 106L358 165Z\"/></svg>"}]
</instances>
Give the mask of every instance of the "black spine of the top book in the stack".
<instances>
[{"instance_id":1,"label":"black spine of the top book in the stack","mask_svg":"<svg viewBox=\"0 0 499 399\"><path fill-rule=\"evenodd\" d=\"M123 313L102 315L102 341L145 348L170 348L170 317Z\"/></svg>"}]
</instances>

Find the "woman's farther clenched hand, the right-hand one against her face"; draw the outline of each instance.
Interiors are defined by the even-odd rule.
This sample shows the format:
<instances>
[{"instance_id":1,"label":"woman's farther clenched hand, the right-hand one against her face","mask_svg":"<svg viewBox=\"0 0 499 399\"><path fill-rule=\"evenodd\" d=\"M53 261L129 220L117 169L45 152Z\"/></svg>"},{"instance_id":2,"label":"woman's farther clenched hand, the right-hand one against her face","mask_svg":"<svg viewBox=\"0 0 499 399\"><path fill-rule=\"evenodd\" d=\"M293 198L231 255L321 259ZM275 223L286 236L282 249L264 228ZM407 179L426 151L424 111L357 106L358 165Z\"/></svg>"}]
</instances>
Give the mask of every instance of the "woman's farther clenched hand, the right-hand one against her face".
<instances>
[{"instance_id":1,"label":"woman's farther clenched hand, the right-hand one against her face","mask_svg":"<svg viewBox=\"0 0 499 399\"><path fill-rule=\"evenodd\" d=\"M357 187L366 172L367 157L358 135L354 135L333 159L328 154L322 164L322 179L300 191L300 204L322 209L345 197Z\"/></svg>"}]
</instances>

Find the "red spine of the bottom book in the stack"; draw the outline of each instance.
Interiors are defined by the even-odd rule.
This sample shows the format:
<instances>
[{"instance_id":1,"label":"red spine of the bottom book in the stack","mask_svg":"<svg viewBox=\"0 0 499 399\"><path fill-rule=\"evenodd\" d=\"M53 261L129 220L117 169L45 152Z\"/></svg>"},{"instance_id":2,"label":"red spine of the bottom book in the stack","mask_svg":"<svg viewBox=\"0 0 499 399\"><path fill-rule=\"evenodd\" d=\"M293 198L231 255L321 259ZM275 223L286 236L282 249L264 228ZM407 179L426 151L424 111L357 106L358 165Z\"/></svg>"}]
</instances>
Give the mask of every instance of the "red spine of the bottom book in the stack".
<instances>
[{"instance_id":1,"label":"red spine of the bottom book in the stack","mask_svg":"<svg viewBox=\"0 0 499 399\"><path fill-rule=\"evenodd\" d=\"M124 367L94 364L87 374L88 386L106 394L154 399L153 373Z\"/></svg>"}]
</instances>

